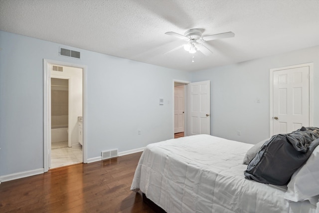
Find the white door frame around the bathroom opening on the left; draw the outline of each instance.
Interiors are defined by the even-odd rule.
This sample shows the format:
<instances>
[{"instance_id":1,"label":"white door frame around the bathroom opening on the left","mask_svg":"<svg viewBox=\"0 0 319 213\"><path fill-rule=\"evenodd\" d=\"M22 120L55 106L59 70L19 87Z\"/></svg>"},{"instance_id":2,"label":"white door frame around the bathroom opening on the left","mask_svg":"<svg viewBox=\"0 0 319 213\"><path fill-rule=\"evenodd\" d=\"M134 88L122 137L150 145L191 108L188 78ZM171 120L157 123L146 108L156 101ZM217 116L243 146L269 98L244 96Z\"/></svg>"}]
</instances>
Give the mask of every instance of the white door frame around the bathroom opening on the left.
<instances>
[{"instance_id":1,"label":"white door frame around the bathroom opening on the left","mask_svg":"<svg viewBox=\"0 0 319 213\"><path fill-rule=\"evenodd\" d=\"M43 59L43 168L44 172L49 170L49 158L51 150L49 150L49 141L51 138L51 127L50 116L49 116L49 98L50 98L50 87L51 87L51 64L58 66L70 66L82 68L83 70L83 163L87 163L87 66L82 64L73 64L62 61L55 61L49 59Z\"/></svg>"}]
</instances>

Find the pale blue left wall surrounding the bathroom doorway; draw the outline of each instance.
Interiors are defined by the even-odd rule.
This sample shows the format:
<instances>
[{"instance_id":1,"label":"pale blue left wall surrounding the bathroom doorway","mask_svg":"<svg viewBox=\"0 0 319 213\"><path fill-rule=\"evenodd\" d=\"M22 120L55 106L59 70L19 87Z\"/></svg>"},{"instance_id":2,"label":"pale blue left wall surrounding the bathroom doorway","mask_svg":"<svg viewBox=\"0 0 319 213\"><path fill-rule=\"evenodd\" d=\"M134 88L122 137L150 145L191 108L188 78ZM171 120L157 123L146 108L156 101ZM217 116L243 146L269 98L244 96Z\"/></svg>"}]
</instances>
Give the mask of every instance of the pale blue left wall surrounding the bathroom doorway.
<instances>
[{"instance_id":1,"label":"pale blue left wall surrounding the bathroom doorway","mask_svg":"<svg viewBox=\"0 0 319 213\"><path fill-rule=\"evenodd\" d=\"M59 56L59 47L81 59ZM0 48L0 177L43 168L43 58L88 67L88 158L173 137L173 79L189 73L4 31Z\"/></svg>"}]
</instances>

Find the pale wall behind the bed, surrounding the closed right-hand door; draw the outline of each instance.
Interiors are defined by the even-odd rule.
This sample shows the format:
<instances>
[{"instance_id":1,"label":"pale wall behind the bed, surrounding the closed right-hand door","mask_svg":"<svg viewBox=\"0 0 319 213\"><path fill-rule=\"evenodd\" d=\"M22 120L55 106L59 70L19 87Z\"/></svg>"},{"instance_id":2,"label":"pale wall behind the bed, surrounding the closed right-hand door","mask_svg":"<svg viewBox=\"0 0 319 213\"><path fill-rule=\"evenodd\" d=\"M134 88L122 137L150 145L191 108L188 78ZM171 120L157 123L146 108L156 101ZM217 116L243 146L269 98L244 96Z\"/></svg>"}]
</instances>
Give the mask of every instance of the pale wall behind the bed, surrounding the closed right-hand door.
<instances>
[{"instance_id":1,"label":"pale wall behind the bed, surrounding the closed right-hand door","mask_svg":"<svg viewBox=\"0 0 319 213\"><path fill-rule=\"evenodd\" d=\"M308 62L314 62L314 126L318 127L319 46L192 73L192 81L211 81L211 134L252 144L270 137L269 69ZM257 98L261 103L256 103Z\"/></svg>"}]
</instances>

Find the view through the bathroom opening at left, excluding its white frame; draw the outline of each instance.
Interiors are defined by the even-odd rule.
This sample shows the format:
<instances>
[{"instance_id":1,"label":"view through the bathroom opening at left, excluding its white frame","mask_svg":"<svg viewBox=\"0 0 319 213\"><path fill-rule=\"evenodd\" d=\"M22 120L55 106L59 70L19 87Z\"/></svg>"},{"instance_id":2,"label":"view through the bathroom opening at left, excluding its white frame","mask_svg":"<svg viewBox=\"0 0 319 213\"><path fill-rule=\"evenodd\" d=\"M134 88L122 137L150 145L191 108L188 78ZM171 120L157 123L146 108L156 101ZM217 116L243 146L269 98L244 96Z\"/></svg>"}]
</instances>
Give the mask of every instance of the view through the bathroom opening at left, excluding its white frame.
<instances>
[{"instance_id":1,"label":"view through the bathroom opening at left, excluding its white frame","mask_svg":"<svg viewBox=\"0 0 319 213\"><path fill-rule=\"evenodd\" d=\"M51 65L50 169L83 163L83 69Z\"/></svg>"}]
</instances>

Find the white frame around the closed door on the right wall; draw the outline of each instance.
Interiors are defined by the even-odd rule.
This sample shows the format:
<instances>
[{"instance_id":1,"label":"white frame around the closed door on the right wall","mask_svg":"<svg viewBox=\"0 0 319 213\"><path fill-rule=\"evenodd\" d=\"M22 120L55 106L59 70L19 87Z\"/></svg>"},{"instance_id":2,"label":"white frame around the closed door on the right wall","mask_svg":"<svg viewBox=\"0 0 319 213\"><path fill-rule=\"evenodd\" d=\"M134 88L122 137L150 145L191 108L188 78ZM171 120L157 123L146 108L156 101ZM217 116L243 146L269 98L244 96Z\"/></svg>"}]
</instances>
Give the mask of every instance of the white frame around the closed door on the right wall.
<instances>
[{"instance_id":1,"label":"white frame around the closed door on the right wall","mask_svg":"<svg viewBox=\"0 0 319 213\"><path fill-rule=\"evenodd\" d=\"M269 123L270 137L273 136L273 74L275 71L283 69L293 69L309 66L309 125L314 126L314 63L304 63L292 66L273 68L269 70Z\"/></svg>"}]
</instances>

